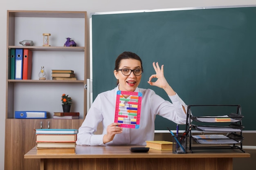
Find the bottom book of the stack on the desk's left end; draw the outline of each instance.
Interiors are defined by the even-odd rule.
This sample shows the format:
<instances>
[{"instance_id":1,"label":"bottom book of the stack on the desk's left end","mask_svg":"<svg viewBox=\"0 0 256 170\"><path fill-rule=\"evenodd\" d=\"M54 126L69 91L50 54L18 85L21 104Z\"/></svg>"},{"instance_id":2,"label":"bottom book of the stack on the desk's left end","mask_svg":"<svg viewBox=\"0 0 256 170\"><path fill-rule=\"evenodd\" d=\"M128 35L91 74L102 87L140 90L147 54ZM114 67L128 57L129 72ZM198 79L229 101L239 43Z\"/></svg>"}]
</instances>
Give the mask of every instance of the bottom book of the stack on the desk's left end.
<instances>
[{"instance_id":1,"label":"bottom book of the stack on the desk's left end","mask_svg":"<svg viewBox=\"0 0 256 170\"><path fill-rule=\"evenodd\" d=\"M76 148L36 148L37 154L76 154Z\"/></svg>"}]
</instances>

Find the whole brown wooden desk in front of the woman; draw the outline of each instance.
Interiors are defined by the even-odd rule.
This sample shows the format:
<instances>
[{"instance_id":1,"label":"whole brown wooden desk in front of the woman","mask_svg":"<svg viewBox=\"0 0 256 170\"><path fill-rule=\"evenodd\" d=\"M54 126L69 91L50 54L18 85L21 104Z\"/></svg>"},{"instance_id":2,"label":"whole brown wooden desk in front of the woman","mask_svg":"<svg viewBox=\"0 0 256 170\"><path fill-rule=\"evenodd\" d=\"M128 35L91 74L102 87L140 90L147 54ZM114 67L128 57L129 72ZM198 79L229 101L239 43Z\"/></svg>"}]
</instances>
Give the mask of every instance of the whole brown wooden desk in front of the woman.
<instances>
[{"instance_id":1,"label":"whole brown wooden desk in front of the woman","mask_svg":"<svg viewBox=\"0 0 256 170\"><path fill-rule=\"evenodd\" d=\"M37 155L36 146L25 159L40 159L40 170L232 170L233 158L250 157L240 150L172 150L130 152L135 146L76 146L73 155ZM138 147L138 146L137 146Z\"/></svg>"}]
</instances>

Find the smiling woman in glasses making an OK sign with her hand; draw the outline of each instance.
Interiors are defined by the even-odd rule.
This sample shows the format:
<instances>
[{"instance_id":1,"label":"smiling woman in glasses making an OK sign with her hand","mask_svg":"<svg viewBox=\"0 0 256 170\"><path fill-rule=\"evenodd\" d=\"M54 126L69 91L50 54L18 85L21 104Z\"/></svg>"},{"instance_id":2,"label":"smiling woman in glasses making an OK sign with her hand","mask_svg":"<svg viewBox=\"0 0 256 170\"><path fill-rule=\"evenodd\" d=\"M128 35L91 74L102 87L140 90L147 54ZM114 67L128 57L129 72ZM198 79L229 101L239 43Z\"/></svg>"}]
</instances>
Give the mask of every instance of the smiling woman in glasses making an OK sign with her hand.
<instances>
[{"instance_id":1,"label":"smiling woman in glasses making an OK sign with her hand","mask_svg":"<svg viewBox=\"0 0 256 170\"><path fill-rule=\"evenodd\" d=\"M138 88L143 73L141 59L132 52L121 53L115 62L114 75L117 87L100 93L94 100L77 134L78 145L146 145L154 140L155 116L160 115L177 124L186 124L186 104L173 91L164 77L164 66L153 62L156 74L149 77L148 83L164 89L171 102L164 100L150 89ZM151 82L152 78L157 78ZM139 129L121 128L114 123L117 91L141 92L141 115ZM128 98L129 96L124 96ZM103 134L94 135L102 121Z\"/></svg>"}]
</instances>

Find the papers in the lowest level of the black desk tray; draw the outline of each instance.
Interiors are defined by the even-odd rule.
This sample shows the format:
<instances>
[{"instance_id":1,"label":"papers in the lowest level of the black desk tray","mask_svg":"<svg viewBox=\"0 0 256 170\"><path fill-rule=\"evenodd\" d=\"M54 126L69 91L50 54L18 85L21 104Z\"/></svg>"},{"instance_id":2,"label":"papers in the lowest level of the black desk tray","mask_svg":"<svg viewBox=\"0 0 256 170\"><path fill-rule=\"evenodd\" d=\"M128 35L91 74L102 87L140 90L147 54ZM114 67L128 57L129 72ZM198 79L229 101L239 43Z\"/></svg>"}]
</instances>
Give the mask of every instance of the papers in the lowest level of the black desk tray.
<instances>
[{"instance_id":1,"label":"papers in the lowest level of the black desk tray","mask_svg":"<svg viewBox=\"0 0 256 170\"><path fill-rule=\"evenodd\" d=\"M243 137L236 133L225 135L192 135L195 142L199 144L240 144Z\"/></svg>"}]
</instances>

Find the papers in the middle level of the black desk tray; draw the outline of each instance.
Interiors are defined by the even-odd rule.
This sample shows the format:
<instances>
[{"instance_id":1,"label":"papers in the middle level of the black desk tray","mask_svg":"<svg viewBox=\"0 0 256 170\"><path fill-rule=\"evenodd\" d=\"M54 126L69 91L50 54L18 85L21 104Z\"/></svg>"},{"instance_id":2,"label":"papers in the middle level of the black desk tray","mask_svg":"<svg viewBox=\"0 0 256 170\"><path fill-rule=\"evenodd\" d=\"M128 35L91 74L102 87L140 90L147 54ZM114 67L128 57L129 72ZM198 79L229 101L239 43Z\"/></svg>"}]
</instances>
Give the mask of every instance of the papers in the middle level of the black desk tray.
<instances>
[{"instance_id":1,"label":"papers in the middle level of the black desk tray","mask_svg":"<svg viewBox=\"0 0 256 170\"><path fill-rule=\"evenodd\" d=\"M240 124L232 123L229 126L197 126L192 124L195 130L207 131L207 132L242 132L244 126Z\"/></svg>"}]
</instances>

